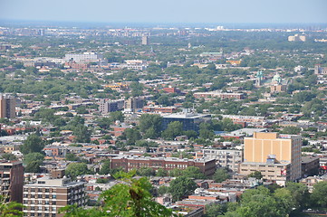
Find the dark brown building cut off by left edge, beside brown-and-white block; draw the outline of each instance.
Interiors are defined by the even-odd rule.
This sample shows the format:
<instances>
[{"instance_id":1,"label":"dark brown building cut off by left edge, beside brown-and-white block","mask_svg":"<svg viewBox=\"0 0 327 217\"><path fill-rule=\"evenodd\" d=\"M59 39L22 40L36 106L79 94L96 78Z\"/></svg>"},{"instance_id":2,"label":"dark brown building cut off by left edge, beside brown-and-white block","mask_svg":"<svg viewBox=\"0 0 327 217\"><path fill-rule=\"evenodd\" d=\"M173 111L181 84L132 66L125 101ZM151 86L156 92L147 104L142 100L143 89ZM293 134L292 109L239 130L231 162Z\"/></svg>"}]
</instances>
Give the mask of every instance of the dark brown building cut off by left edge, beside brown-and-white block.
<instances>
[{"instance_id":1,"label":"dark brown building cut off by left edge, beside brown-and-white block","mask_svg":"<svg viewBox=\"0 0 327 217\"><path fill-rule=\"evenodd\" d=\"M23 203L24 167L19 161L0 161L0 195Z\"/></svg>"}]
</instances>

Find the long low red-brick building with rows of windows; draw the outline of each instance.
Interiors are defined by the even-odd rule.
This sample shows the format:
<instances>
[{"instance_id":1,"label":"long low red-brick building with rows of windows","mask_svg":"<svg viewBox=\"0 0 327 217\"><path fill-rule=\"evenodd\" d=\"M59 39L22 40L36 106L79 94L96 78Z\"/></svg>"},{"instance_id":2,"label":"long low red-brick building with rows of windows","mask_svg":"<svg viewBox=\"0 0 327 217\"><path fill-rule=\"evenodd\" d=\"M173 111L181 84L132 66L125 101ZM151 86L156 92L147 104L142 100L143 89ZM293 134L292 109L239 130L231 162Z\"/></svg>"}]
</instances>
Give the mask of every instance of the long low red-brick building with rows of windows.
<instances>
[{"instance_id":1,"label":"long low red-brick building with rows of windows","mask_svg":"<svg viewBox=\"0 0 327 217\"><path fill-rule=\"evenodd\" d=\"M188 166L196 166L204 175L213 175L216 171L216 160L214 159L179 159L175 157L138 157L138 156L116 156L111 159L111 168L123 168L125 171L149 167L153 170L162 168L173 170L178 168L184 170Z\"/></svg>"}]
</instances>

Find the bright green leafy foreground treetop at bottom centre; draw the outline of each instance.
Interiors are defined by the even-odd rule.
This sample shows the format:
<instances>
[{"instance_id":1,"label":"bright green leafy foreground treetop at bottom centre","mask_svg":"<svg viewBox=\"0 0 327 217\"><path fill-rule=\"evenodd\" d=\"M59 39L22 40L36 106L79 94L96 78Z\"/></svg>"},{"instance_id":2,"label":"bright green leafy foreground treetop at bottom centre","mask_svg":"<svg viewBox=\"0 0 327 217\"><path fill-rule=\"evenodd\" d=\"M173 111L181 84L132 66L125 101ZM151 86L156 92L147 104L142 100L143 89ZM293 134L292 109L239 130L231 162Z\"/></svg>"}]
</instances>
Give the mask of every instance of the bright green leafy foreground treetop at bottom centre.
<instances>
[{"instance_id":1,"label":"bright green leafy foreground treetop at bottom centre","mask_svg":"<svg viewBox=\"0 0 327 217\"><path fill-rule=\"evenodd\" d=\"M101 193L103 205L89 210L83 210L76 205L66 206L61 210L65 217L170 217L175 216L165 206L152 200L150 192L152 185L146 177L134 179L135 171L115 175L120 184Z\"/></svg>"}]
</instances>

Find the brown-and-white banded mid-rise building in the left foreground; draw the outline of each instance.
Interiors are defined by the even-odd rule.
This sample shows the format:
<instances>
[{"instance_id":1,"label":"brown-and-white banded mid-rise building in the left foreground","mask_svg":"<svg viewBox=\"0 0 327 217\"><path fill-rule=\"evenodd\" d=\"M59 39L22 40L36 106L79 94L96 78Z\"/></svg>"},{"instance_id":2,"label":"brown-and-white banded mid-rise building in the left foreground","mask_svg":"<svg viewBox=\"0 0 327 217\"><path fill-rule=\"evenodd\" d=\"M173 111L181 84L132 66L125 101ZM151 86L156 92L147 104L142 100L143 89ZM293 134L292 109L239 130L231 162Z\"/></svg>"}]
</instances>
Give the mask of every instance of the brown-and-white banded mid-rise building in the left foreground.
<instances>
[{"instance_id":1,"label":"brown-and-white banded mid-rise building in the left foreground","mask_svg":"<svg viewBox=\"0 0 327 217\"><path fill-rule=\"evenodd\" d=\"M57 217L60 208L77 204L84 206L85 183L70 178L44 176L35 184L24 184L24 216Z\"/></svg>"}]
</instances>

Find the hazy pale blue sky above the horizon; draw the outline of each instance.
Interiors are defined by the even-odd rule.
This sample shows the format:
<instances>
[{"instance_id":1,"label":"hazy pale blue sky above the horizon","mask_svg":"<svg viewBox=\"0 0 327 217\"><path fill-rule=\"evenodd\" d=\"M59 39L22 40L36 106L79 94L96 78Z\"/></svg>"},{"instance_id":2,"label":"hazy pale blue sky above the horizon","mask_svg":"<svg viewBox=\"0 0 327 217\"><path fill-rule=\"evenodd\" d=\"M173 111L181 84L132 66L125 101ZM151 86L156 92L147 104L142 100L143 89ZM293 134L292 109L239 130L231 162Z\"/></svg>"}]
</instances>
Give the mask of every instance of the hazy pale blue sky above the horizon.
<instances>
[{"instance_id":1,"label":"hazy pale blue sky above the horizon","mask_svg":"<svg viewBox=\"0 0 327 217\"><path fill-rule=\"evenodd\" d=\"M0 19L103 23L327 23L327 0L0 0Z\"/></svg>"}]
</instances>

